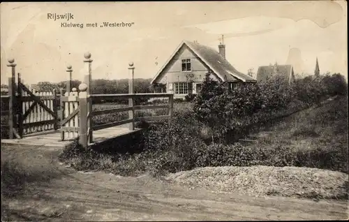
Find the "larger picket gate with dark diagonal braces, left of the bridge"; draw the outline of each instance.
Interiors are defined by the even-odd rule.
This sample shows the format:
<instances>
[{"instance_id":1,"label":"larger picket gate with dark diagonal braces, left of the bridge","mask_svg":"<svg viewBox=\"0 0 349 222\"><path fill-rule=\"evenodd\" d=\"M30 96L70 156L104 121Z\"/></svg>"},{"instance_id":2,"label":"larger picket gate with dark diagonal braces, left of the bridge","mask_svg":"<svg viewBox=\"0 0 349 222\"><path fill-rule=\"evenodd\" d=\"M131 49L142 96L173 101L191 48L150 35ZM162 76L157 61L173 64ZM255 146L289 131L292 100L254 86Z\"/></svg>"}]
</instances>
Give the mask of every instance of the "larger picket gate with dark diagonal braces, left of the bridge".
<instances>
[{"instance_id":1,"label":"larger picket gate with dark diagonal braces, left of the bridge","mask_svg":"<svg viewBox=\"0 0 349 222\"><path fill-rule=\"evenodd\" d=\"M56 91L36 92L28 89L18 73L17 86L17 128L20 138L23 135L57 130L57 107L59 97Z\"/></svg>"}]
</instances>

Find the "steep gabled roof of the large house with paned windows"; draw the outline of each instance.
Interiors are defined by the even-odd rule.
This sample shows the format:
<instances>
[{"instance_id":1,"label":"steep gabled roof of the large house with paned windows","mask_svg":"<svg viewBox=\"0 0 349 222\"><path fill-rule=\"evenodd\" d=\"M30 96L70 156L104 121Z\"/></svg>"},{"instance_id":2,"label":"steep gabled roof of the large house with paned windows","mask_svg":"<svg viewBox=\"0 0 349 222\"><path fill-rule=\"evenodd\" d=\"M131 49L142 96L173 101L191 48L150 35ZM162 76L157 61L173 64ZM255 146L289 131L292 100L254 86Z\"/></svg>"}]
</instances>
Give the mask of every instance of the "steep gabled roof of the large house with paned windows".
<instances>
[{"instance_id":1,"label":"steep gabled roof of the large house with paned windows","mask_svg":"<svg viewBox=\"0 0 349 222\"><path fill-rule=\"evenodd\" d=\"M168 66L171 59L174 55L183 47L184 45L188 46L188 48L193 51L199 59L202 60L210 69L213 71L222 81L232 82L241 80L243 82L256 82L253 77L246 75L244 73L240 73L237 71L226 59L224 59L221 54L219 54L216 50L206 45L200 45L199 43L193 43L187 40L181 42L181 44L174 50L170 59L166 61L163 67L156 73L153 80L151 80L151 84L154 83L158 75L163 71L163 69Z\"/></svg>"}]
</instances>

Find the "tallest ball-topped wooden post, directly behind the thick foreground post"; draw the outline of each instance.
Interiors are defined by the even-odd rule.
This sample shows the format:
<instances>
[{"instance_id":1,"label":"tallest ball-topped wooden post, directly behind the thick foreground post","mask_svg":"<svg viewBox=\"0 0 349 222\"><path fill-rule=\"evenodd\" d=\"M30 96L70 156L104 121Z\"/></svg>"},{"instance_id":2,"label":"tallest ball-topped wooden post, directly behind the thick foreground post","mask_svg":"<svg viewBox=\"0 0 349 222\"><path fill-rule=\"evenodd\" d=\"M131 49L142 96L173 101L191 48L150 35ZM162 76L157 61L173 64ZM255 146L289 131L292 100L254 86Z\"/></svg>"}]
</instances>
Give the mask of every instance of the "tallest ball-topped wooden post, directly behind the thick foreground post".
<instances>
[{"instance_id":1,"label":"tallest ball-topped wooden post, directly behind the thick foreground post","mask_svg":"<svg viewBox=\"0 0 349 222\"><path fill-rule=\"evenodd\" d=\"M91 59L91 53L86 52L84 54L84 66L85 71L87 71L87 74L84 75L84 84L86 84L87 89L87 95L91 94L91 80L92 80L92 59ZM93 141L93 133L92 133L92 127L91 127L91 118L92 118L92 102L90 100L87 100L87 137L89 139L89 142Z\"/></svg>"}]
</instances>

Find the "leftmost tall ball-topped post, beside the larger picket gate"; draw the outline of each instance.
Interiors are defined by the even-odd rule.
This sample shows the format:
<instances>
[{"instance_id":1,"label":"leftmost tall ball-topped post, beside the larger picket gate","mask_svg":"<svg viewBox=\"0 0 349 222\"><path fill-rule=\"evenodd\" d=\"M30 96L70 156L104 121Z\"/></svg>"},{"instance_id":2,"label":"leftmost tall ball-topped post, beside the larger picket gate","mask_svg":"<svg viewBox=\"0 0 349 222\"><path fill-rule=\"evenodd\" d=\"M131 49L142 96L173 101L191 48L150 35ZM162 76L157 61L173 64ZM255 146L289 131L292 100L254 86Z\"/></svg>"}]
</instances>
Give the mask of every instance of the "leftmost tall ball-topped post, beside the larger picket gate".
<instances>
[{"instance_id":1,"label":"leftmost tall ball-topped post, beside the larger picket gate","mask_svg":"<svg viewBox=\"0 0 349 222\"><path fill-rule=\"evenodd\" d=\"M8 136L13 139L15 133L15 59L8 59L8 67L11 69L11 77L8 78L8 96L9 109L8 109Z\"/></svg>"}]
</instances>

